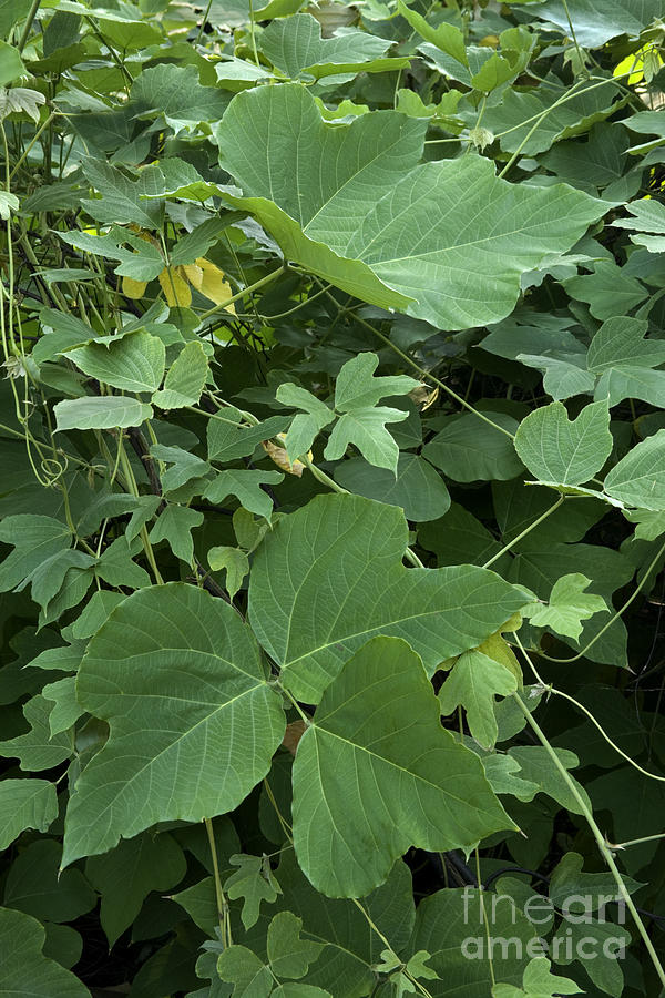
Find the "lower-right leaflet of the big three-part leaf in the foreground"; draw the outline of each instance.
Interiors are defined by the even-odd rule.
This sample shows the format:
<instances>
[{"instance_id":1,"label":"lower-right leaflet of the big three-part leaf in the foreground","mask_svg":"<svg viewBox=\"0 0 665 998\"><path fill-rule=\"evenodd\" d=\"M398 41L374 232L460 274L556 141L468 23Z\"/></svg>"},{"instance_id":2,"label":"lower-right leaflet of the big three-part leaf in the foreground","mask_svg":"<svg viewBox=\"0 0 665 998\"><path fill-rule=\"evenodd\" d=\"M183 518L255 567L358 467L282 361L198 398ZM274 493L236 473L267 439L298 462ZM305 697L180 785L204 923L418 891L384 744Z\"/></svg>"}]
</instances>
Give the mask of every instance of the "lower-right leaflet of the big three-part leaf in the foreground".
<instances>
[{"instance_id":1,"label":"lower-right leaflet of the big three-part leaf in the foreground","mask_svg":"<svg viewBox=\"0 0 665 998\"><path fill-rule=\"evenodd\" d=\"M420 659L395 638L368 642L330 683L293 780L298 863L332 897L368 894L411 845L470 848L510 827L478 756L441 727Z\"/></svg>"}]
</instances>

